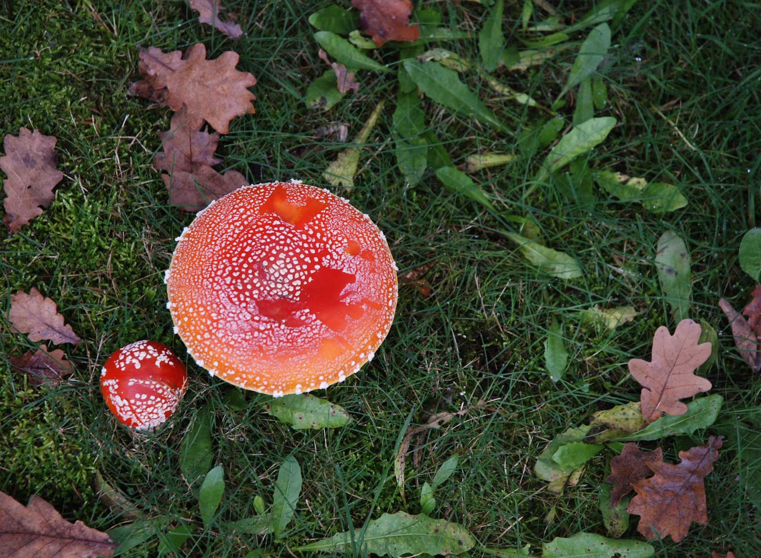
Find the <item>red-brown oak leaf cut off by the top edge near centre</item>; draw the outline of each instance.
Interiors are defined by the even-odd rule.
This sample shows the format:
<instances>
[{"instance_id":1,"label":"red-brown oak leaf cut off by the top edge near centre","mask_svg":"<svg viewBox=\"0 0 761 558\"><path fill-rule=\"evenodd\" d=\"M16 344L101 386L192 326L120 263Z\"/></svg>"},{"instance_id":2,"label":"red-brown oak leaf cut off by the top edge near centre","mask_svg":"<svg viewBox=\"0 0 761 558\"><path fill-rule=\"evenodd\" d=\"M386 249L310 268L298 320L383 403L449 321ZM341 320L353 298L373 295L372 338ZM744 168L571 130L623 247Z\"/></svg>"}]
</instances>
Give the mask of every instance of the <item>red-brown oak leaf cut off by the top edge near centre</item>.
<instances>
[{"instance_id":1,"label":"red-brown oak leaf cut off by the top edge near centre","mask_svg":"<svg viewBox=\"0 0 761 558\"><path fill-rule=\"evenodd\" d=\"M413 41L420 37L420 26L409 25L409 0L352 0L352 6L360 11L359 27L377 46L387 40Z\"/></svg>"}]
</instances>

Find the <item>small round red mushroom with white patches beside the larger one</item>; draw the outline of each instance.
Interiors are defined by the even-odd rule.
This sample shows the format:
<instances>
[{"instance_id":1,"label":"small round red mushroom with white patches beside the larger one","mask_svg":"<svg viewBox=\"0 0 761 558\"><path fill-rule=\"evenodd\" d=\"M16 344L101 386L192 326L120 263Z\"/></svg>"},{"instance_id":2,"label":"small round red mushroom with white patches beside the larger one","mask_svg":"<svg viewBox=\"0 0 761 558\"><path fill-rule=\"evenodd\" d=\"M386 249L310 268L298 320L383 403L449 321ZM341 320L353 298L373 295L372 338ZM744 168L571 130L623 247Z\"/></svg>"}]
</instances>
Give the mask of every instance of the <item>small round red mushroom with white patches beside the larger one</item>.
<instances>
[{"instance_id":1,"label":"small round red mushroom with white patches beside the larger one","mask_svg":"<svg viewBox=\"0 0 761 558\"><path fill-rule=\"evenodd\" d=\"M168 419L187 384L183 362L156 341L123 346L100 369L100 393L109 409L119 422L139 430Z\"/></svg>"}]
</instances>

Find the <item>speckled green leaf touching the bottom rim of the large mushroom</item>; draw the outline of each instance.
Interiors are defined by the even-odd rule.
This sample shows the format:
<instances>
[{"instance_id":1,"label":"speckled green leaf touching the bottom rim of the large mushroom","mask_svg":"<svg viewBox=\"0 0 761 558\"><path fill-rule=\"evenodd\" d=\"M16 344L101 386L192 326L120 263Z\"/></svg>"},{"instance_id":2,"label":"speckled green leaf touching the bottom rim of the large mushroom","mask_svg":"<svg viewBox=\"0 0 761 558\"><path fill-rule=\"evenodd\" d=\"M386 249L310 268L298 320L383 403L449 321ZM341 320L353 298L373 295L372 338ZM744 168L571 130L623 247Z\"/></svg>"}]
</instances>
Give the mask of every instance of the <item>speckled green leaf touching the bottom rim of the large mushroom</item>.
<instances>
[{"instance_id":1,"label":"speckled green leaf touching the bottom rim of the large mushroom","mask_svg":"<svg viewBox=\"0 0 761 558\"><path fill-rule=\"evenodd\" d=\"M352 420L342 407L312 394L273 397L264 410L296 430L339 428Z\"/></svg>"}]
</instances>

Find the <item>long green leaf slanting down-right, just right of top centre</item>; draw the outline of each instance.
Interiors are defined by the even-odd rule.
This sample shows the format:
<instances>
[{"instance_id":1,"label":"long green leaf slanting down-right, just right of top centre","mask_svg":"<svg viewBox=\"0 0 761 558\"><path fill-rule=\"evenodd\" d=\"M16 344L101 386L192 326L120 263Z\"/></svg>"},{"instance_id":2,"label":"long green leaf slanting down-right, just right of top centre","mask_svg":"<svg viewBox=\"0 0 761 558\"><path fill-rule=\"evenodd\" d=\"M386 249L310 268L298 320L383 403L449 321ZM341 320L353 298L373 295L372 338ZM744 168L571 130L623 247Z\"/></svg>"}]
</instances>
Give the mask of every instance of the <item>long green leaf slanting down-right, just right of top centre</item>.
<instances>
[{"instance_id":1,"label":"long green leaf slanting down-right, just right of top centre","mask_svg":"<svg viewBox=\"0 0 761 558\"><path fill-rule=\"evenodd\" d=\"M413 58L408 58L402 63L412 81L415 81L423 93L437 103L464 116L473 116L479 122L509 132L497 115L460 81L454 70L444 68L435 62L421 64Z\"/></svg>"}]
</instances>

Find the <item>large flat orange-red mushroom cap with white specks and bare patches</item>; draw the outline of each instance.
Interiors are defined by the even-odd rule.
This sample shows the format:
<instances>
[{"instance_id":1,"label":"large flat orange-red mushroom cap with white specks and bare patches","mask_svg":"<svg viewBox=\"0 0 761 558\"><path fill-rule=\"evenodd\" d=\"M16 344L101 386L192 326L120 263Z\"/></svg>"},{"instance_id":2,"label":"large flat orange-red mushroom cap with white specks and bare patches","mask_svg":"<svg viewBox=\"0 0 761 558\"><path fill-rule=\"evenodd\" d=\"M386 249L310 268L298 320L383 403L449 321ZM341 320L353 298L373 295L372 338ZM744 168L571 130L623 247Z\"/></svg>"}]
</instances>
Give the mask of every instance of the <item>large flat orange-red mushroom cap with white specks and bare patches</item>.
<instances>
[{"instance_id":1,"label":"large flat orange-red mushroom cap with white specks and bare patches","mask_svg":"<svg viewBox=\"0 0 761 558\"><path fill-rule=\"evenodd\" d=\"M396 311L396 269L384 234L348 200L300 180L256 184L177 238L167 308L212 376L300 394L373 358Z\"/></svg>"}]
</instances>

